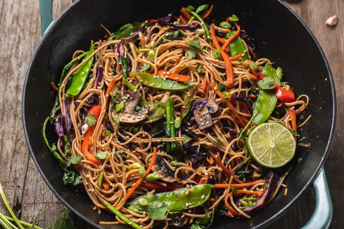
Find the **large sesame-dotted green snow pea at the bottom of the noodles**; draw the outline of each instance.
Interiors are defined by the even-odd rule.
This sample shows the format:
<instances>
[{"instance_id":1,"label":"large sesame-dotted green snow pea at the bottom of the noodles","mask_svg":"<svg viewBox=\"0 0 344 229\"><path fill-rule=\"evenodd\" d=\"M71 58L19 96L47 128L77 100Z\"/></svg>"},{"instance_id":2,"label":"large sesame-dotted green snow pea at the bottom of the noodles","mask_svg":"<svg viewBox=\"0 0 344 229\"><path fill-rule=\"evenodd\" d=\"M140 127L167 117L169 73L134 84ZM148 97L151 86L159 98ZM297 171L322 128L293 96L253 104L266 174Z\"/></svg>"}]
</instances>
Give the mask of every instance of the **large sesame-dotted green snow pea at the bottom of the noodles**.
<instances>
[{"instance_id":1,"label":"large sesame-dotted green snow pea at the bottom of the noodles","mask_svg":"<svg viewBox=\"0 0 344 229\"><path fill-rule=\"evenodd\" d=\"M133 206L139 211L149 212L151 209L159 208L159 206L161 207L165 203L170 212L182 211L203 204L209 198L212 188L213 185L211 184L200 184L192 186L189 188L189 191L187 191L187 188L184 188L172 192L153 193L148 196L142 195L127 202L126 205ZM140 206L137 203L140 198L146 198L148 204Z\"/></svg>"}]
</instances>

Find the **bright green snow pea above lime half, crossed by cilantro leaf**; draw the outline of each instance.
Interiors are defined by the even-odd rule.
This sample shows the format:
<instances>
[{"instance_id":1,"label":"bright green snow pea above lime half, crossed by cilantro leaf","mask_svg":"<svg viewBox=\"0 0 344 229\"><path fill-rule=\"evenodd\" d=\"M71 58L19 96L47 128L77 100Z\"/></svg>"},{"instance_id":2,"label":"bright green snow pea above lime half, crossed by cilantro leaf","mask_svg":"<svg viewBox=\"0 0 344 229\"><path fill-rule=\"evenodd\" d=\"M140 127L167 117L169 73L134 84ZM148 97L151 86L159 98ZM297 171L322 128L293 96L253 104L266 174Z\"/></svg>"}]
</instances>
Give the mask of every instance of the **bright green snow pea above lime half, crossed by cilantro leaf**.
<instances>
[{"instance_id":1,"label":"bright green snow pea above lime half, crossed by cilantro leaf","mask_svg":"<svg viewBox=\"0 0 344 229\"><path fill-rule=\"evenodd\" d=\"M280 79L276 74L276 70L271 67L269 63L265 64L262 74L271 77L276 84L280 85ZM271 115L273 109L275 109L276 103L277 97L272 90L260 90L252 116L257 112L258 115L252 120L252 122L257 125L265 122Z\"/></svg>"}]
</instances>

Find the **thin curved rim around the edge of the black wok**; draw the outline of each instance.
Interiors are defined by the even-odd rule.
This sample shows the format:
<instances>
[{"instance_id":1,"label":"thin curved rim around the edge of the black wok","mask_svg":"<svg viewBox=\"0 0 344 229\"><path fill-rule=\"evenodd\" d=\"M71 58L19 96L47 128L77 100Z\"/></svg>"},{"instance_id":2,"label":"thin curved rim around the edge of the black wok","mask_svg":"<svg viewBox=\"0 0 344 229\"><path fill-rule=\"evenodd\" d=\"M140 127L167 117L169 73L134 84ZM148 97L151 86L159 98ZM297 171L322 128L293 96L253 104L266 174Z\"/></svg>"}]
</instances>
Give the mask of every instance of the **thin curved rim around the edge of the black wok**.
<instances>
[{"instance_id":1,"label":"thin curved rim around the edge of the black wok","mask_svg":"<svg viewBox=\"0 0 344 229\"><path fill-rule=\"evenodd\" d=\"M40 40L39 44L37 45L35 51L33 52L33 55L31 57L29 66L28 66L28 70L26 72L25 75L25 80L24 80L24 85L23 85L23 93L22 93L22 122L23 122L23 129L24 129L24 135L25 135L25 139L26 139L26 143L28 144L28 148L30 151L30 154L32 156L32 159L38 169L38 171L40 172L42 178L44 179L45 183L49 186L49 188L51 189L51 191L54 193L54 195L58 198L58 200L60 200L65 206L67 206L74 214L76 214L78 217L82 218L83 220L85 220L88 224L92 225L93 227L97 228L97 229L104 229L104 227L100 226L99 224L96 224L95 222L91 221L90 219L86 218L84 215L82 215L81 213L79 213L73 206L71 206L70 204L68 204L64 198L58 194L56 192L56 190L53 188L52 184L49 182L49 180L46 178L45 174L43 173L40 165L38 164L35 154L33 152L33 149L31 147L30 144L30 140L29 140L29 136L28 136L28 132L27 132L27 128L26 128L26 119L25 119L25 98L26 98L26 86L28 83L28 79L29 79L29 75L30 75L30 71L32 68L32 64L34 62L34 60L36 59L36 56L38 55L38 51L41 49L41 46L44 42L44 40L50 35L52 29L63 19L63 17L76 5L80 2L80 0L77 0L75 2L73 2L71 5L69 5L69 7L64 10L62 12L62 14L60 16L58 16L58 18L53 22L53 24L51 24L51 26L47 29L46 33L44 34L44 36L42 37L42 39ZM323 61L325 63L326 69L327 69L327 73L329 76L329 80L330 80L330 86L331 86L331 94L332 94L332 124L331 124L331 130L330 130L330 136L329 136L329 140L327 141L326 144L326 148L324 151L324 154L321 158L321 161L319 163L319 165L317 166L317 168L315 169L315 171L313 172L311 178L308 180L308 182L306 183L306 185L301 189L301 191L287 204L285 205L283 208L281 208L275 215L273 215L270 218L267 218L264 222L261 222L258 225L255 225L254 227L252 227L251 229L258 229L258 228L263 228L263 227L267 227L268 225L272 224L272 222L276 221L277 219L281 218L283 215L285 215L288 210L295 204L297 203L297 200L310 188L310 186L312 185L315 177L318 175L321 167L323 166L327 156L329 155L329 151L330 151L330 147L331 147L331 143L333 140L333 136L334 136L334 130L335 130L335 124L336 124L336 112L337 112L337 106L336 106L336 92L335 92L335 86L334 86L334 80L333 80L333 75L330 69L330 65L329 62L326 59L325 53L323 51L323 49L321 48L318 40L315 38L314 34L311 32L310 28L302 21L302 19L290 8L288 7L288 5L286 5L286 3L284 3L281 0L277 0L277 2L279 4L281 4L283 7L285 7L291 14L294 15L294 17L296 17L296 19L302 24L302 26L307 30L307 32L309 33L309 35L312 37L313 41L315 42L316 46L318 47L320 54L323 58Z\"/></svg>"}]
</instances>

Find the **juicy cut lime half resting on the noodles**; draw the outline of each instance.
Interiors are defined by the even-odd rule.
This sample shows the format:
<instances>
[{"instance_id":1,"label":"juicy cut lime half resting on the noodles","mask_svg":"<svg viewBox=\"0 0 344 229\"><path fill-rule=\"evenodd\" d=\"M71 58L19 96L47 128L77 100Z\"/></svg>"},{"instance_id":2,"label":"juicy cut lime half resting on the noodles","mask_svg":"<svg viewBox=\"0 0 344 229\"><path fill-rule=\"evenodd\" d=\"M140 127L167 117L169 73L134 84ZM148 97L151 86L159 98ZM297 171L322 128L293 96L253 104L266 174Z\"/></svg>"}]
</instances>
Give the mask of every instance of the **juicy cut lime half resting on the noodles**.
<instances>
[{"instance_id":1,"label":"juicy cut lime half resting on the noodles","mask_svg":"<svg viewBox=\"0 0 344 229\"><path fill-rule=\"evenodd\" d=\"M296 142L293 134L277 122L258 125L248 137L251 157L261 166L278 168L294 156Z\"/></svg>"}]
</instances>

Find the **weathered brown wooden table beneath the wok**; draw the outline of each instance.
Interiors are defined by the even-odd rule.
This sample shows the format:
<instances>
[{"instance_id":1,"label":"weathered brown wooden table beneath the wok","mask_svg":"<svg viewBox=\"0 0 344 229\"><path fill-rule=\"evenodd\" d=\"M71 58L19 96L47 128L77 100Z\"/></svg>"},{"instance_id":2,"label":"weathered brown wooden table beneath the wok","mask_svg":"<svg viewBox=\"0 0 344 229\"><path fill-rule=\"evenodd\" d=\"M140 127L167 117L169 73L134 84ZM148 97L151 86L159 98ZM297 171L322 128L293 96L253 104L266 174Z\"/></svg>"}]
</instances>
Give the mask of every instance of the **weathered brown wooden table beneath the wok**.
<instances>
[{"instance_id":1,"label":"weathered brown wooden table beneath the wok","mask_svg":"<svg viewBox=\"0 0 344 229\"><path fill-rule=\"evenodd\" d=\"M65 10L72 0L55 0L54 17ZM287 4L301 16L319 40L329 60L337 89L337 125L331 153L325 163L327 182L333 203L331 229L344 228L343 166L344 109L344 1L302 0ZM325 25L328 17L337 14L335 27ZM29 154L21 120L21 95L25 73L34 49L41 39L39 1L0 0L0 181L7 199L17 216L32 222L40 210L36 225L47 228L61 217L63 205L43 181ZM312 58L309 55L309 58ZM315 206L314 190L268 228L294 229L302 227L311 217ZM4 204L0 212L7 213ZM81 219L74 217L77 228L85 228ZM90 227L87 227L90 228Z\"/></svg>"}]
</instances>

